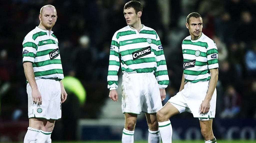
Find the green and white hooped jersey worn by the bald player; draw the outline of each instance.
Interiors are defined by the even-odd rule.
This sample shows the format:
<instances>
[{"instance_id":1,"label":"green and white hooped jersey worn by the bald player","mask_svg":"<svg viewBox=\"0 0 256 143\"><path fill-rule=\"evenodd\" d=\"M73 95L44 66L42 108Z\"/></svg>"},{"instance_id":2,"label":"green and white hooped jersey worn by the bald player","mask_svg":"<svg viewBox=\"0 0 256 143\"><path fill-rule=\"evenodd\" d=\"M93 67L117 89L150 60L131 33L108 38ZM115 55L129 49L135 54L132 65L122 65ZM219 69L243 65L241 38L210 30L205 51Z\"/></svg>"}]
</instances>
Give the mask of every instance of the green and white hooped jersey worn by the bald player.
<instances>
[{"instance_id":1,"label":"green and white hooped jersey worn by the bald player","mask_svg":"<svg viewBox=\"0 0 256 143\"><path fill-rule=\"evenodd\" d=\"M35 80L40 78L61 80L64 78L58 39L48 30L36 27L23 40L23 63L33 63Z\"/></svg>"}]
</instances>

